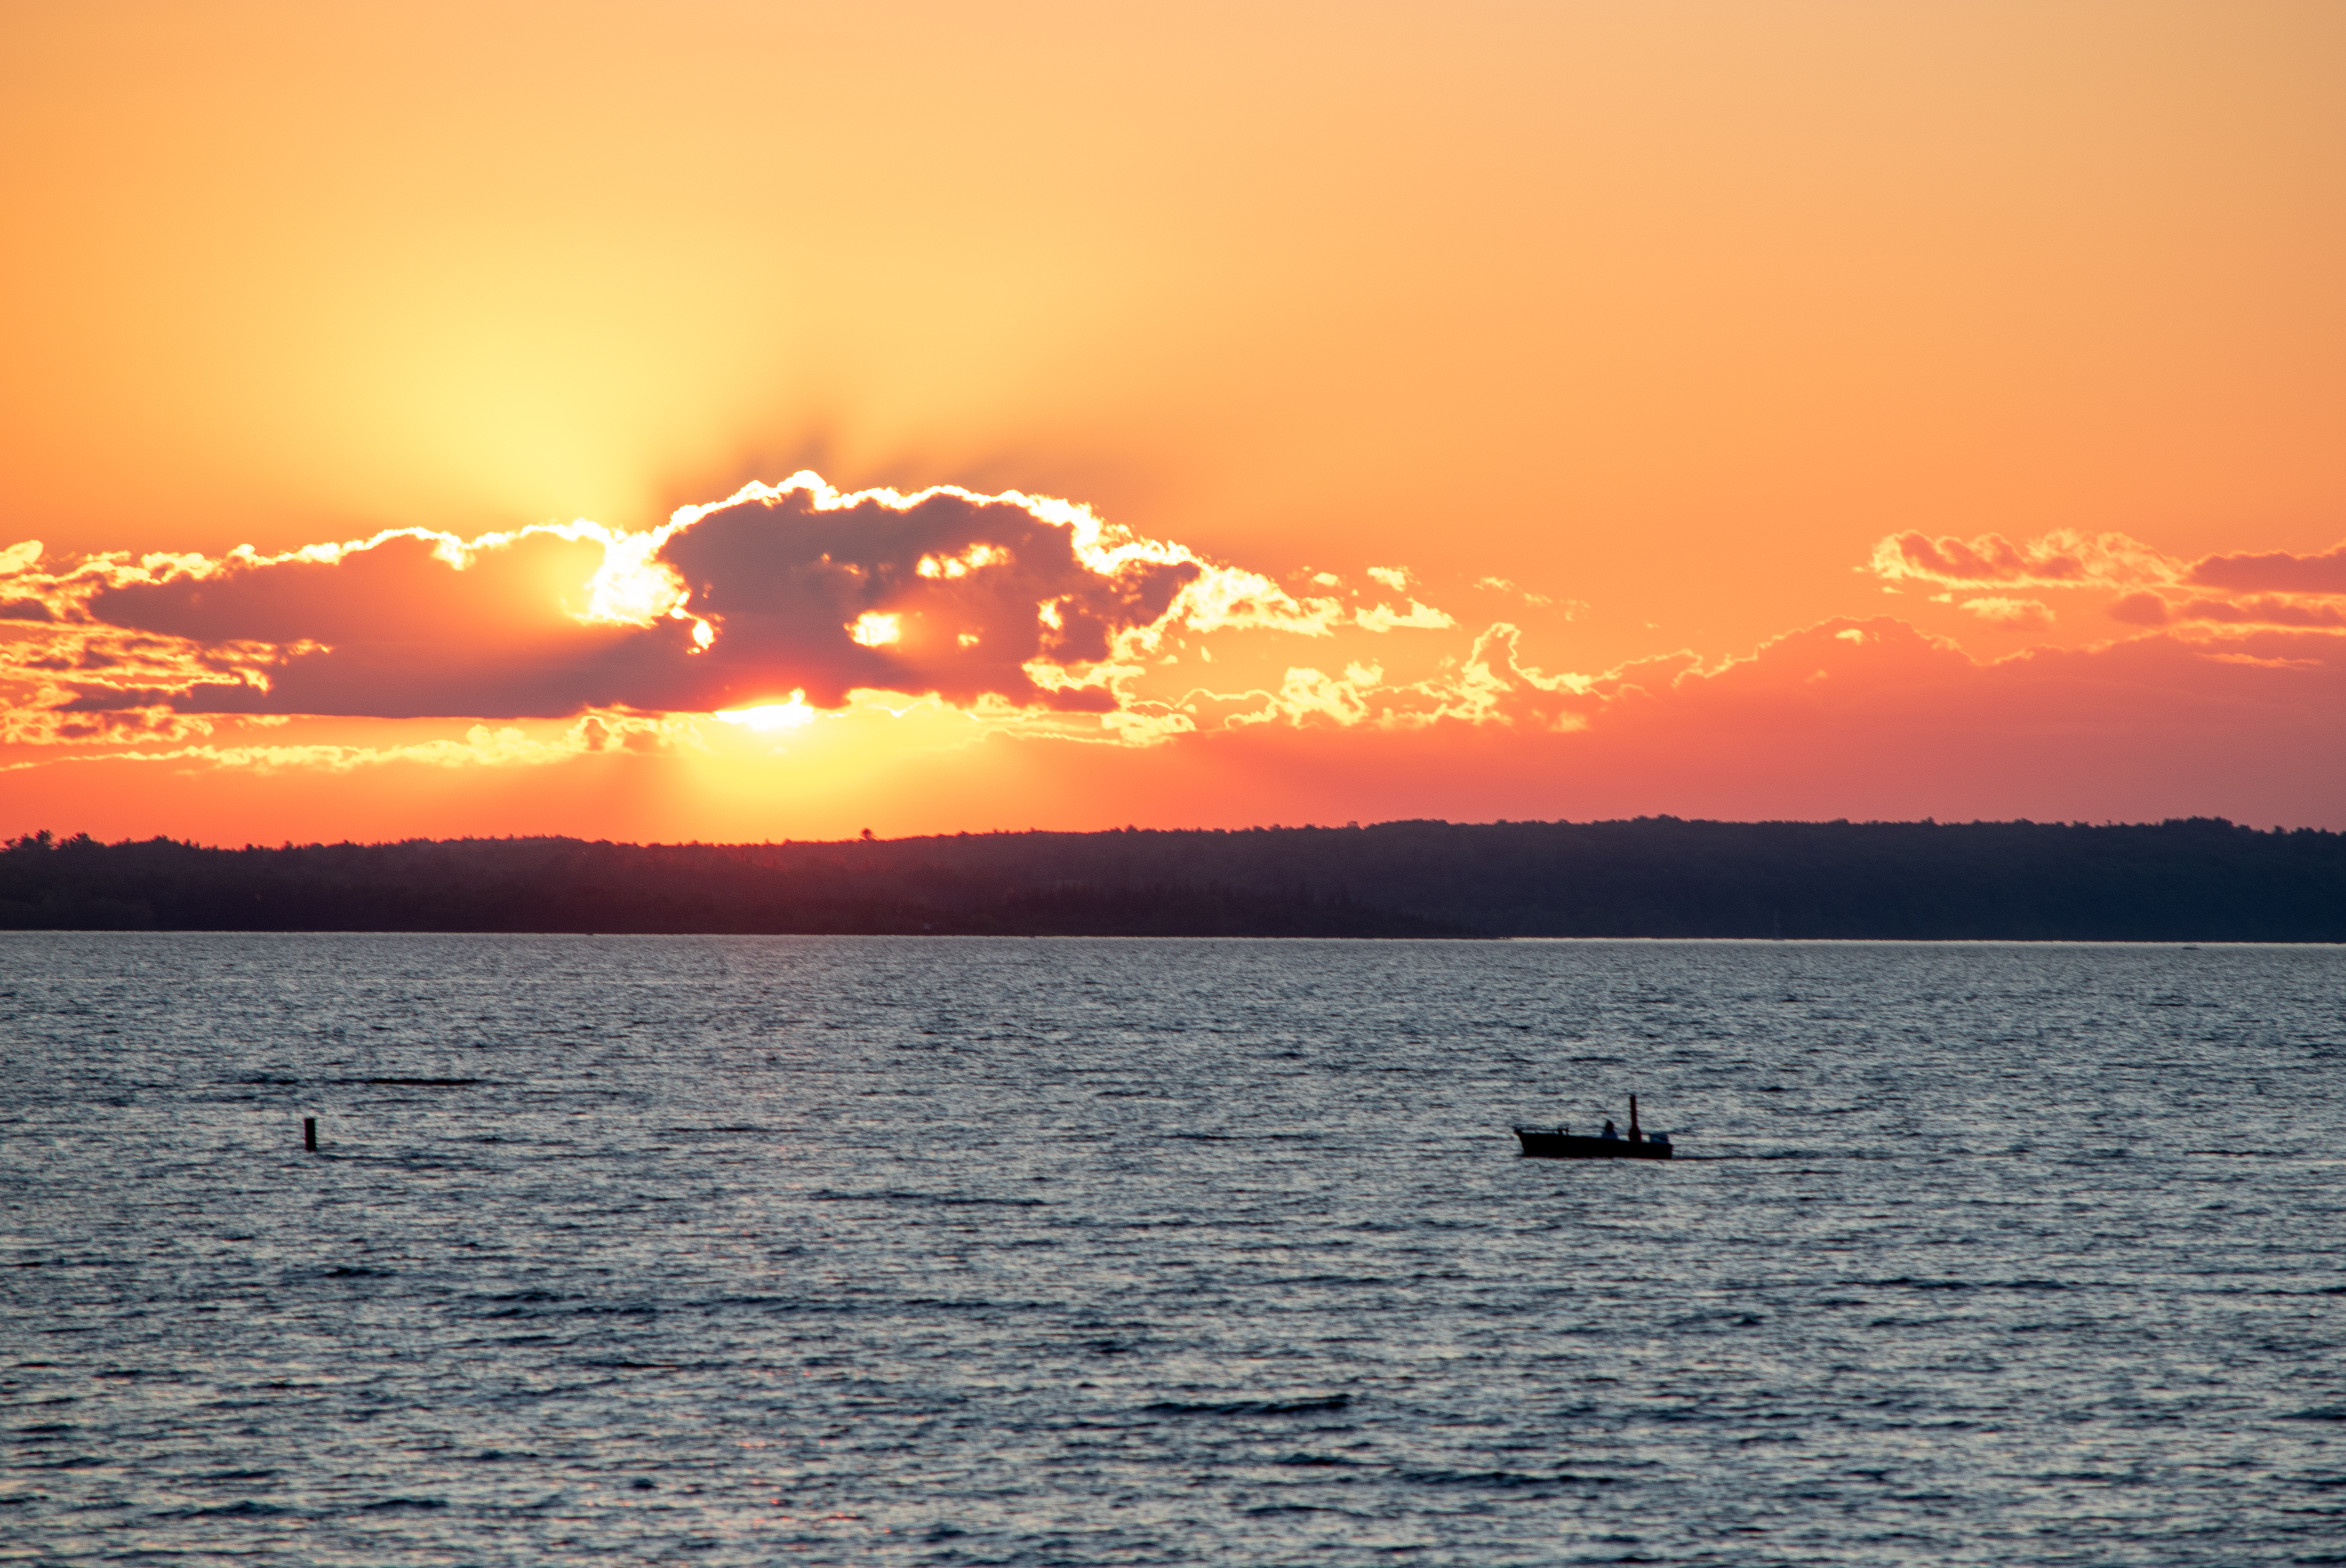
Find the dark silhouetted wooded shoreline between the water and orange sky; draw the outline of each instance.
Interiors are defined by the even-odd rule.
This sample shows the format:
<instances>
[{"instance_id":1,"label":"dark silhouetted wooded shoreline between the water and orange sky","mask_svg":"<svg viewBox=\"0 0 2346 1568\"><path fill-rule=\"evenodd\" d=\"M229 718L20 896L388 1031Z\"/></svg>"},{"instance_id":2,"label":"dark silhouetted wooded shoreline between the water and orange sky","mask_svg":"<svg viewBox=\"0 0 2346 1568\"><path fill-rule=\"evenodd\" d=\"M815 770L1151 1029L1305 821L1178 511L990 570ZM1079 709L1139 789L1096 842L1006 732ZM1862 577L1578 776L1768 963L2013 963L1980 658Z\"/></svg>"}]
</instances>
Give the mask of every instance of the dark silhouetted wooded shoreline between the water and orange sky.
<instances>
[{"instance_id":1,"label":"dark silhouetted wooded shoreline between the water and orange sky","mask_svg":"<svg viewBox=\"0 0 2346 1568\"><path fill-rule=\"evenodd\" d=\"M2346 941L2346 833L1384 822L781 845L0 847L0 927Z\"/></svg>"}]
</instances>

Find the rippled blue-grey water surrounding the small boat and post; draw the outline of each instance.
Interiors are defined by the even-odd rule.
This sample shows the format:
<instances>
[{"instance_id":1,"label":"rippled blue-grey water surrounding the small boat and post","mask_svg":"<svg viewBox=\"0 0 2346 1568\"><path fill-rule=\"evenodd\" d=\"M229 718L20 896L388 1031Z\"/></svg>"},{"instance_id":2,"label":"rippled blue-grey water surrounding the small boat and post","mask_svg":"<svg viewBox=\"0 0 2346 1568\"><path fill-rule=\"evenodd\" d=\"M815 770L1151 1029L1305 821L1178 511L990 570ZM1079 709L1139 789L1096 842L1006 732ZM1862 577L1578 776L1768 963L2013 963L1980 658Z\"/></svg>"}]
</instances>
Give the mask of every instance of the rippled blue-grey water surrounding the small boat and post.
<instances>
[{"instance_id":1,"label":"rippled blue-grey water surrounding the small boat and post","mask_svg":"<svg viewBox=\"0 0 2346 1568\"><path fill-rule=\"evenodd\" d=\"M2346 948L7 934L0 1561L2346 1563L2341 1131Z\"/></svg>"}]
</instances>

